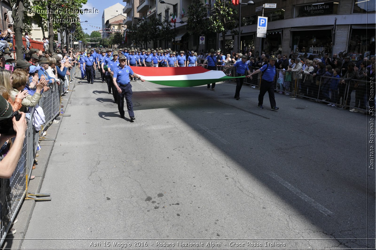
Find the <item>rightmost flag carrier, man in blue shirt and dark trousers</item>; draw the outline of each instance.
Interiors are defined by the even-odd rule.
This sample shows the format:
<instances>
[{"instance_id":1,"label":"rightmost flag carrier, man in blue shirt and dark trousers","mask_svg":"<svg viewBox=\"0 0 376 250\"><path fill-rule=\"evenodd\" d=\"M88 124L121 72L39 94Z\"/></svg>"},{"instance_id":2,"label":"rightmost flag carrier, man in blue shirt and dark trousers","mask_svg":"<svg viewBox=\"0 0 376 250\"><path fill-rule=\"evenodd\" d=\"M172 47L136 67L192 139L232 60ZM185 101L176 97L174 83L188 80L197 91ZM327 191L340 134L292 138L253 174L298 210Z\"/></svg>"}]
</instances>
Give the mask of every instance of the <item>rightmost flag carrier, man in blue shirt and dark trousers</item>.
<instances>
[{"instance_id":1,"label":"rightmost flag carrier, man in blue shirt and dark trousers","mask_svg":"<svg viewBox=\"0 0 376 250\"><path fill-rule=\"evenodd\" d=\"M276 100L274 99L274 76L276 75L276 67L274 64L276 61L277 58L274 55L270 56L269 63L265 64L260 69L253 71L253 73L250 75L250 79L252 81L252 75L263 72L260 85L259 102L257 106L259 108L264 108L262 107L262 102L264 101L265 93L268 92L271 110L279 109L276 107Z\"/></svg>"}]
</instances>

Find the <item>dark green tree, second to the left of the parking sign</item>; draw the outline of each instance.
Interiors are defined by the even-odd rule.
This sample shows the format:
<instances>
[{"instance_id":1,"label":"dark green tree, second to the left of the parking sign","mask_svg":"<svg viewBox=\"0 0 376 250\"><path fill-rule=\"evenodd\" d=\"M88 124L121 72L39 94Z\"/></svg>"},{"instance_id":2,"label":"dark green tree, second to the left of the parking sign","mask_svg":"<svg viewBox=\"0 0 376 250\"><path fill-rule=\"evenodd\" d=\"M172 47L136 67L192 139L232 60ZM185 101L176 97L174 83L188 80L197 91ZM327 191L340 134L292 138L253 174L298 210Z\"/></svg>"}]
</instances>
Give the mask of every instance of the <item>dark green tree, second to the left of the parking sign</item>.
<instances>
[{"instance_id":1,"label":"dark green tree, second to the left of the parking sign","mask_svg":"<svg viewBox=\"0 0 376 250\"><path fill-rule=\"evenodd\" d=\"M208 10L201 0L192 0L188 6L188 20L186 29L190 35L196 37L204 35L209 29Z\"/></svg>"}]
</instances>

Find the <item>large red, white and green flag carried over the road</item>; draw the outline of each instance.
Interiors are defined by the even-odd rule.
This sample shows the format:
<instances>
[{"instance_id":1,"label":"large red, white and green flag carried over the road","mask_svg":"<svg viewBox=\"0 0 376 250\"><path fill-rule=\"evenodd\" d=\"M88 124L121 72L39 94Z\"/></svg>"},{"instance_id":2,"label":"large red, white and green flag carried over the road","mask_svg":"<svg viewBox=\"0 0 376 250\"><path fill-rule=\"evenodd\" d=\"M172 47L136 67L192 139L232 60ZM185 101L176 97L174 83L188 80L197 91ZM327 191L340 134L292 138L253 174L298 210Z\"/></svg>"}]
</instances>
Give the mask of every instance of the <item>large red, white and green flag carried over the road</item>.
<instances>
[{"instance_id":1,"label":"large red, white and green flag carried over the road","mask_svg":"<svg viewBox=\"0 0 376 250\"><path fill-rule=\"evenodd\" d=\"M172 87L195 87L235 77L226 76L221 70L207 70L203 67L133 67L134 73L142 79ZM238 76L244 77L244 76Z\"/></svg>"}]
</instances>

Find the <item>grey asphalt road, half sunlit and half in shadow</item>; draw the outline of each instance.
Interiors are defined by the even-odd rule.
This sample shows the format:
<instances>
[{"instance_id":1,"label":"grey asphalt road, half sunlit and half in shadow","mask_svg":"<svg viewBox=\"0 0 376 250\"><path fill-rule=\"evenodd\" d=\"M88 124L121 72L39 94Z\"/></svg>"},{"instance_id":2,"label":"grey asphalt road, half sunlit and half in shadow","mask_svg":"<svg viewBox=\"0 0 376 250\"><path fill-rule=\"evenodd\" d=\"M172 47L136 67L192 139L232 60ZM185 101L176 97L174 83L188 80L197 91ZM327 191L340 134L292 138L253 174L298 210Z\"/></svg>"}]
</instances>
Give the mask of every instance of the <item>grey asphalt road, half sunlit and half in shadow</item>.
<instances>
[{"instance_id":1,"label":"grey asphalt road, half sunlit and half in shadow","mask_svg":"<svg viewBox=\"0 0 376 250\"><path fill-rule=\"evenodd\" d=\"M132 85L135 122L106 84L76 82L41 188L52 201L36 203L22 248L367 247L364 114L277 93L280 109L265 95L261 110L258 90L237 101L232 83Z\"/></svg>"}]
</instances>

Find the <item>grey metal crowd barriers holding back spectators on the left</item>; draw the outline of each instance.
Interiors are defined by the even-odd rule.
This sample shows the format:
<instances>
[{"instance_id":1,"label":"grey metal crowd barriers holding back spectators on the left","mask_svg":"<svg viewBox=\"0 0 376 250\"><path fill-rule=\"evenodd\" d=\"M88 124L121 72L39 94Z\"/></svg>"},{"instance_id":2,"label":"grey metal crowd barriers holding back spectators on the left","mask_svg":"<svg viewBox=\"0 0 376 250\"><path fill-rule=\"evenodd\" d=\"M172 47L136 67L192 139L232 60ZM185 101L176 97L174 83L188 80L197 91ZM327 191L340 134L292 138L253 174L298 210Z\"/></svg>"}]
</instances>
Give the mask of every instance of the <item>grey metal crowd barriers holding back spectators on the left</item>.
<instances>
[{"instance_id":1,"label":"grey metal crowd barriers holding back spectators on the left","mask_svg":"<svg viewBox=\"0 0 376 250\"><path fill-rule=\"evenodd\" d=\"M76 66L70 70L71 75L68 80L74 77ZM69 86L69 85L68 85ZM11 178L0 178L0 246L6 238L12 222L23 200L51 200L49 197L39 198L38 196L49 196L49 194L34 194L28 192L28 183L34 164L35 154L38 146L40 133L44 131L50 122L60 114L61 95L64 95L64 84L50 85L50 90L42 93L39 106L45 114L45 126L40 131L35 131L33 126L33 114L35 108L30 108L30 119L27 119L26 137L24 140L21 157ZM38 197L38 198L37 198Z\"/></svg>"}]
</instances>

